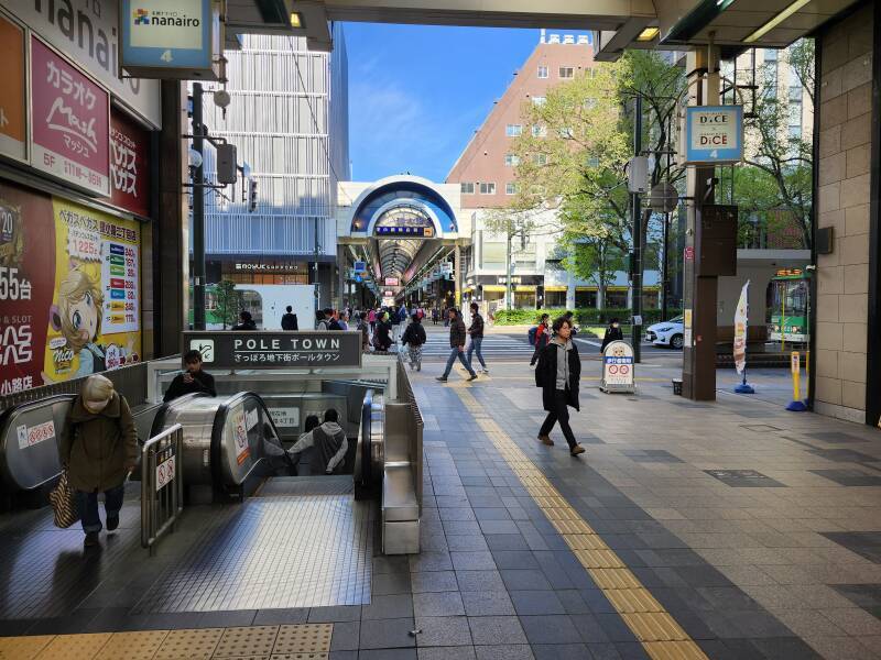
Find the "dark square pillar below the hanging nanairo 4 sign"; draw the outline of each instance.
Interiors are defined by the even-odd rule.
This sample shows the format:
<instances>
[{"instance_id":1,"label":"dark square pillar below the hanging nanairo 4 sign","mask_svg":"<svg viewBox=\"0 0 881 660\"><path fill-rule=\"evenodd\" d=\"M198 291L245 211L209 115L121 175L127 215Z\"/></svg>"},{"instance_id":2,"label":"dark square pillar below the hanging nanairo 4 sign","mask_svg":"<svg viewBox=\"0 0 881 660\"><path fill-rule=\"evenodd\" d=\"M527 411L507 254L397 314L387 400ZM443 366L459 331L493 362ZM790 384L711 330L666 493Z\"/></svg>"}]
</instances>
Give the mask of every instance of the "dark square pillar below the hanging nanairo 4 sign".
<instances>
[{"instance_id":1,"label":"dark square pillar below the hanging nanairo 4 sign","mask_svg":"<svg viewBox=\"0 0 881 660\"><path fill-rule=\"evenodd\" d=\"M153 227L154 350L157 358L181 351L181 331L189 314L189 223L183 180L187 168L186 88L162 82L159 135L159 212Z\"/></svg>"}]
</instances>

